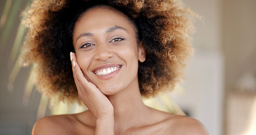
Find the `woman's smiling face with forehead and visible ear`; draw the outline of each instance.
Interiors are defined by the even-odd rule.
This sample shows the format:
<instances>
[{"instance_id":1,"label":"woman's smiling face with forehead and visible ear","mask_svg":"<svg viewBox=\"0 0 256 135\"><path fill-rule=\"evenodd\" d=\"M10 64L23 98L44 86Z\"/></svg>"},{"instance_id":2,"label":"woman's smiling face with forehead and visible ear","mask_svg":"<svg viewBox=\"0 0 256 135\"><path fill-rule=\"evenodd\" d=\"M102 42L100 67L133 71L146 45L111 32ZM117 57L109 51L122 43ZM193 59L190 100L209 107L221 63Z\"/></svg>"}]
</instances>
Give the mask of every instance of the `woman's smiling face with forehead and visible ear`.
<instances>
[{"instance_id":1,"label":"woman's smiling face with forehead and visible ear","mask_svg":"<svg viewBox=\"0 0 256 135\"><path fill-rule=\"evenodd\" d=\"M138 61L145 61L145 51L123 13L106 7L84 12L75 23L73 44L84 77L105 95L138 86Z\"/></svg>"}]
</instances>

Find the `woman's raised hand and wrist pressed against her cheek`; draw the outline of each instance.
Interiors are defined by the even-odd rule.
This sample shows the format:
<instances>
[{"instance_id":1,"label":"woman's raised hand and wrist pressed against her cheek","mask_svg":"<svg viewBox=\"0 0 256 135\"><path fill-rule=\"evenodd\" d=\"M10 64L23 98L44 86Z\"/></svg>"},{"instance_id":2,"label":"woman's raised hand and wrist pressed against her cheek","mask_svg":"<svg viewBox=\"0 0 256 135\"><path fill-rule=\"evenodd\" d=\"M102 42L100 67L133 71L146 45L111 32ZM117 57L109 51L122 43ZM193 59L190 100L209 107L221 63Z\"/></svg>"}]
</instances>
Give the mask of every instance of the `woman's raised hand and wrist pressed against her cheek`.
<instances>
[{"instance_id":1,"label":"woman's raised hand and wrist pressed against her cheek","mask_svg":"<svg viewBox=\"0 0 256 135\"><path fill-rule=\"evenodd\" d=\"M78 96L96 118L96 134L114 134L113 105L95 84L84 77L75 53L70 52L70 59Z\"/></svg>"}]
</instances>

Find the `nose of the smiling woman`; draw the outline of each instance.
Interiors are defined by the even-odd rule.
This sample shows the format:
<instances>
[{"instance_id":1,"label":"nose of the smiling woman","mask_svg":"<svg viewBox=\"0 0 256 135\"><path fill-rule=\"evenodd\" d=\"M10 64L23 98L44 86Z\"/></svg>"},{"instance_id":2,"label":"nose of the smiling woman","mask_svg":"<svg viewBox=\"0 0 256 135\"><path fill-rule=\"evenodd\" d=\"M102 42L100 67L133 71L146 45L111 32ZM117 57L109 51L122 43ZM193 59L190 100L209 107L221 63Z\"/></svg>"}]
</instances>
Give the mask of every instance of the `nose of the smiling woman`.
<instances>
[{"instance_id":1,"label":"nose of the smiling woman","mask_svg":"<svg viewBox=\"0 0 256 135\"><path fill-rule=\"evenodd\" d=\"M95 59L106 61L107 59L113 57L113 51L110 48L110 45L107 43L98 44L95 51Z\"/></svg>"}]
</instances>

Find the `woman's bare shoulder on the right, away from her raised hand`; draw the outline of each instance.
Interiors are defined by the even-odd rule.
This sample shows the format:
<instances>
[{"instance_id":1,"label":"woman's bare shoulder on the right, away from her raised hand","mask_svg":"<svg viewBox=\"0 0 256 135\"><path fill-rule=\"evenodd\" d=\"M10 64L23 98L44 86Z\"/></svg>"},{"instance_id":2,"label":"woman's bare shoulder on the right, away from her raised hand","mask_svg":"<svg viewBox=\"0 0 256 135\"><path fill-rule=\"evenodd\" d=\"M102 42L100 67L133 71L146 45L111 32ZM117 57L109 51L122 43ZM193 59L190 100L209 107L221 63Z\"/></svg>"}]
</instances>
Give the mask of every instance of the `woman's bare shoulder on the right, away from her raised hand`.
<instances>
[{"instance_id":1,"label":"woman's bare shoulder on the right, away from her raised hand","mask_svg":"<svg viewBox=\"0 0 256 135\"><path fill-rule=\"evenodd\" d=\"M208 131L204 125L196 119L165 113L155 109L151 109L151 112L153 113L151 114L151 119L154 119L154 124L149 129L151 133L166 135L208 135Z\"/></svg>"}]
</instances>

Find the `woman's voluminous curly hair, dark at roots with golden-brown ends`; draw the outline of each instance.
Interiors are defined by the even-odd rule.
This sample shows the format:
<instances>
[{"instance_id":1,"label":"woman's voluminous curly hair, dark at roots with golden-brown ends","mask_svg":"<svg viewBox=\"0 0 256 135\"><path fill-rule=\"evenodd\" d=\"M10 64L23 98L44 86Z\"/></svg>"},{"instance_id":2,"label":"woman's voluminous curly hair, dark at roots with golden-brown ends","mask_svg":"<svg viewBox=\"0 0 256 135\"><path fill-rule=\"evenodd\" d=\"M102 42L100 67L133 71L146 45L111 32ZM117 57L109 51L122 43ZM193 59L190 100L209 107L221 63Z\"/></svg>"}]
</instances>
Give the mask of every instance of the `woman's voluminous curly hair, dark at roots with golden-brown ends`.
<instances>
[{"instance_id":1,"label":"woman's voluminous curly hair, dark at roots with golden-brown ends","mask_svg":"<svg viewBox=\"0 0 256 135\"><path fill-rule=\"evenodd\" d=\"M174 0L33 1L23 13L28 32L21 62L35 65L37 88L60 101L80 102L69 61L73 28L81 13L99 5L123 12L137 27L146 50L146 61L138 66L141 95L172 90L184 77L194 32L188 17L193 13Z\"/></svg>"}]
</instances>

